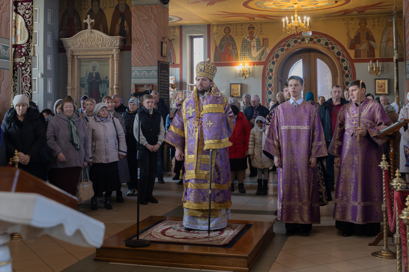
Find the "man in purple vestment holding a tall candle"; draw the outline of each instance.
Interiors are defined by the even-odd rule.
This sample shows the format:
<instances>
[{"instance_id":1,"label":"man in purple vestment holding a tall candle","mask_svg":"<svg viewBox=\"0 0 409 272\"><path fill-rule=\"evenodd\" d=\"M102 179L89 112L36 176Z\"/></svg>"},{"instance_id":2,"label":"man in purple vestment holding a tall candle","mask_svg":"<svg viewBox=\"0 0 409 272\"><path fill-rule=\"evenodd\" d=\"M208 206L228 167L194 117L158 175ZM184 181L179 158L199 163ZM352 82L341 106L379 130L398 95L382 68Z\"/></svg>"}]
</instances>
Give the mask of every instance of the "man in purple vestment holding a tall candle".
<instances>
[{"instance_id":1,"label":"man in purple vestment holding a tall candle","mask_svg":"<svg viewBox=\"0 0 409 272\"><path fill-rule=\"evenodd\" d=\"M358 127L359 84L359 80L354 80L348 86L352 103L339 110L328 149L339 169L333 218L335 227L346 237L353 233L373 236L380 231L383 199L378 164L388 137L380 138L378 132L392 125L383 107L365 97L366 86L362 82Z\"/></svg>"}]
</instances>

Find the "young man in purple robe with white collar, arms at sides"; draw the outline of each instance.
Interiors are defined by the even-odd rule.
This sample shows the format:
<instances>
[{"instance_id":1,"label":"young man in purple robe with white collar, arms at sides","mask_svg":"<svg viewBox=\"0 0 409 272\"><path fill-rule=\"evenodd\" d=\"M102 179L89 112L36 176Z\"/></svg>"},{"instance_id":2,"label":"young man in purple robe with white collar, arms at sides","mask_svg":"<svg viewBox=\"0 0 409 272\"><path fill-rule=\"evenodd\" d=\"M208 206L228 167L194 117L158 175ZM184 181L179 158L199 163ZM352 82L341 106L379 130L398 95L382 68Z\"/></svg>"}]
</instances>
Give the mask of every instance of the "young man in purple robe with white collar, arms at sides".
<instances>
[{"instance_id":1,"label":"young man in purple robe with white collar, arms at sides","mask_svg":"<svg viewBox=\"0 0 409 272\"><path fill-rule=\"evenodd\" d=\"M321 222L315 167L328 156L327 146L318 111L303 100L304 80L292 76L287 83L291 98L272 110L263 152L274 156L277 167L278 220L285 234L308 236L312 224Z\"/></svg>"}]
</instances>

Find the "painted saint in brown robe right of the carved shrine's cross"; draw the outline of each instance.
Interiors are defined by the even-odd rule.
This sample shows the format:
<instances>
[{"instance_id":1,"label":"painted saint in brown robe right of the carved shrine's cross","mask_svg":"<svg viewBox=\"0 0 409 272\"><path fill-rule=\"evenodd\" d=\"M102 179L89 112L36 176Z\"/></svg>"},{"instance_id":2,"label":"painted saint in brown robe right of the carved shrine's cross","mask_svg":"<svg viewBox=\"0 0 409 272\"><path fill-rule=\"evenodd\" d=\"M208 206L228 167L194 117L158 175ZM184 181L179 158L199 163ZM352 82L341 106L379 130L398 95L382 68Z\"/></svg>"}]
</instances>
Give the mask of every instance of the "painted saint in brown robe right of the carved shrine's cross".
<instances>
[{"instance_id":1,"label":"painted saint in brown robe right of the carved shrine's cross","mask_svg":"<svg viewBox=\"0 0 409 272\"><path fill-rule=\"evenodd\" d=\"M124 44L131 44L132 13L126 4L126 0L118 0L118 5L112 14L109 36L121 36L125 38Z\"/></svg>"}]
</instances>

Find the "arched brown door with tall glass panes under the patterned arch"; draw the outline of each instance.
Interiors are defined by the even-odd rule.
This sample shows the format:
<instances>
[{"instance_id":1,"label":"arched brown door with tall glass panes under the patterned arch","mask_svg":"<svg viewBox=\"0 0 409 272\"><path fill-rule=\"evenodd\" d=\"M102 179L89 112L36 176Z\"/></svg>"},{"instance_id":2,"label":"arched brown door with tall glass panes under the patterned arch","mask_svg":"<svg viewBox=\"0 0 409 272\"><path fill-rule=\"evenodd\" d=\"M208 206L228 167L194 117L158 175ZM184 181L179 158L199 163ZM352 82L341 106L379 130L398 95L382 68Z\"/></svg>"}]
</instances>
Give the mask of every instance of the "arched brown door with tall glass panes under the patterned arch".
<instances>
[{"instance_id":1,"label":"arched brown door with tall glass panes under the patterned arch","mask_svg":"<svg viewBox=\"0 0 409 272\"><path fill-rule=\"evenodd\" d=\"M336 65L326 54L316 50L305 50L294 54L283 63L281 71L281 86L290 76L300 76L304 79L303 97L307 92L314 94L314 100L324 96L331 98L331 87L336 82Z\"/></svg>"}]
</instances>

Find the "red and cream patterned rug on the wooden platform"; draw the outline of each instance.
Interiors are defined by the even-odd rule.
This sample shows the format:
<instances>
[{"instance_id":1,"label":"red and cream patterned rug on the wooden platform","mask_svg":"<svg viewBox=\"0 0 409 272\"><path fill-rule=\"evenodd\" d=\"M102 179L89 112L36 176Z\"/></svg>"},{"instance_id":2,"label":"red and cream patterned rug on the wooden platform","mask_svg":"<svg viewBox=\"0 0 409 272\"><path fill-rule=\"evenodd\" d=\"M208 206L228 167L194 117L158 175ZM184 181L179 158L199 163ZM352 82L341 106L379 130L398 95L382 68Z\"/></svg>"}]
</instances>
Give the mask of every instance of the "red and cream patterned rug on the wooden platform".
<instances>
[{"instance_id":1,"label":"red and cream patterned rug on the wooden platform","mask_svg":"<svg viewBox=\"0 0 409 272\"><path fill-rule=\"evenodd\" d=\"M152 242L222 246L229 244L246 224L228 224L221 231L185 231L183 221L164 220L143 232L139 238ZM136 238L134 238L136 239Z\"/></svg>"}]
</instances>

